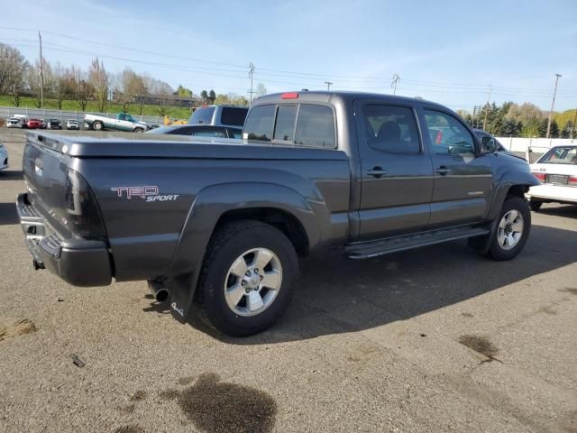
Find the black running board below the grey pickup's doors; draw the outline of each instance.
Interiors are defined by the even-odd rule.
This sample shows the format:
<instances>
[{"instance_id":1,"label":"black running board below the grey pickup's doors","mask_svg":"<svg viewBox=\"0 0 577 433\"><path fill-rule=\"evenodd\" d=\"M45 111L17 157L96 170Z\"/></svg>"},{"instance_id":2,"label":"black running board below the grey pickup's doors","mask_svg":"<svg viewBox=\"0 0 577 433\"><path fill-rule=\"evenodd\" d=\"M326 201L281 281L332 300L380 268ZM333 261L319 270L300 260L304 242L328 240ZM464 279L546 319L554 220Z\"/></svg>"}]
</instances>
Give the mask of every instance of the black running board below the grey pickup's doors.
<instances>
[{"instance_id":1,"label":"black running board below the grey pickup's doors","mask_svg":"<svg viewBox=\"0 0 577 433\"><path fill-rule=\"evenodd\" d=\"M482 235L489 235L489 228L472 226L441 228L413 235L401 235L377 241L348 244L344 247L344 255L349 259L368 259L377 255L410 250L419 246L441 244L455 239Z\"/></svg>"}]
</instances>

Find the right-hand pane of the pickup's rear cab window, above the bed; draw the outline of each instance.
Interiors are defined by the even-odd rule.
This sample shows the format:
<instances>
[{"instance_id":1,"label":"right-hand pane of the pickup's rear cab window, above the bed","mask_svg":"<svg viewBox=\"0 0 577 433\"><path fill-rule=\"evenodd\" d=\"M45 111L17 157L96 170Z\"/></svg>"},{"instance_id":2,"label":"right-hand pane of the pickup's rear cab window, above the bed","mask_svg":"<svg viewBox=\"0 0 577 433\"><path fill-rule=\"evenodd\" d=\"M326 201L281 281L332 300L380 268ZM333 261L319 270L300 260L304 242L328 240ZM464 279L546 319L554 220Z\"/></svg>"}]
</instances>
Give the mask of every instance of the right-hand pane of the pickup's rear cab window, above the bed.
<instances>
[{"instance_id":1,"label":"right-hand pane of the pickup's rear cab window, above the bed","mask_svg":"<svg viewBox=\"0 0 577 433\"><path fill-rule=\"evenodd\" d=\"M298 109L295 144L334 148L334 112L330 106L302 104Z\"/></svg>"}]
</instances>

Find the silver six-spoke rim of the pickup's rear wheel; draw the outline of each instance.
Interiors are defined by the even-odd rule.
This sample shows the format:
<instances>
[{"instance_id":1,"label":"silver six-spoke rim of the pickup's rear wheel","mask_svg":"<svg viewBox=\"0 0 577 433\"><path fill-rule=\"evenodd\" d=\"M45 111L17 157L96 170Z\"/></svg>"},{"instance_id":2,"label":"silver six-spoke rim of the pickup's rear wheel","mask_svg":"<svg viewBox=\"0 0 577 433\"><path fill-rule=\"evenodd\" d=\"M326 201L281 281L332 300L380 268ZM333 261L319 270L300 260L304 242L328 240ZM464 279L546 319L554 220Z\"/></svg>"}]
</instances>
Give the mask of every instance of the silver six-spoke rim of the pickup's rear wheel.
<instances>
[{"instance_id":1,"label":"silver six-spoke rim of the pickup's rear wheel","mask_svg":"<svg viewBox=\"0 0 577 433\"><path fill-rule=\"evenodd\" d=\"M279 257L266 248L252 248L229 268L224 280L224 298L235 314L256 316L270 307L281 284Z\"/></svg>"}]
</instances>

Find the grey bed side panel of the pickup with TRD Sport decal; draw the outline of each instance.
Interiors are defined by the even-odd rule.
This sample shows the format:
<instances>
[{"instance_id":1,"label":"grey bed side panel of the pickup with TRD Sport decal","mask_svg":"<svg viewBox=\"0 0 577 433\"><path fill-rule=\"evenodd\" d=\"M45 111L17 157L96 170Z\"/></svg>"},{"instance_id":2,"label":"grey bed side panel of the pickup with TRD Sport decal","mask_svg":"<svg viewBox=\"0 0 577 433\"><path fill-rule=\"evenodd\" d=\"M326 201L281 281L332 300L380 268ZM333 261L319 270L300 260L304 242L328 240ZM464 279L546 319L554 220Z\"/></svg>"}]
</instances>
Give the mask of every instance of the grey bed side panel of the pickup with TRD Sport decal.
<instances>
[{"instance_id":1,"label":"grey bed side panel of the pickup with TRD Sport decal","mask_svg":"<svg viewBox=\"0 0 577 433\"><path fill-rule=\"evenodd\" d=\"M96 195L117 281L192 272L222 212L257 206L255 198L282 207L279 188L293 191L294 197L306 203L307 209L298 212L305 220L311 248L342 243L347 235L350 170L343 156L340 161L77 158L72 168L87 179ZM138 196L119 197L114 190L141 186L156 187L160 196L178 197L148 202ZM210 194L215 187L228 194ZM207 191L204 196L203 190ZM203 197L202 207L195 205L199 195ZM218 205L218 211L213 207L208 212L209 205ZM190 226L193 224L202 226L198 237L190 237L199 233ZM173 258L177 260L171 270Z\"/></svg>"}]
</instances>

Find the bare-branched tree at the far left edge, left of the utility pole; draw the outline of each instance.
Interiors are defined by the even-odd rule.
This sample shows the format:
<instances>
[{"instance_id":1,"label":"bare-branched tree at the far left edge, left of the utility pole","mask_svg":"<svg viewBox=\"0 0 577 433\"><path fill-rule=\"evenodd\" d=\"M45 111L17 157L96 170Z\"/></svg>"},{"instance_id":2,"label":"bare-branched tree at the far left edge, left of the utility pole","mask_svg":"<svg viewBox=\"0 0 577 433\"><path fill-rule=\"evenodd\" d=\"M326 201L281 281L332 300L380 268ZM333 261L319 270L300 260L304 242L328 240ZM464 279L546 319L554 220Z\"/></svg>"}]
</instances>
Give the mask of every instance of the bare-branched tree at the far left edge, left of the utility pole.
<instances>
[{"instance_id":1,"label":"bare-branched tree at the far left edge, left of the utility pole","mask_svg":"<svg viewBox=\"0 0 577 433\"><path fill-rule=\"evenodd\" d=\"M0 43L0 94L9 94L14 106L20 106L28 62L15 48Z\"/></svg>"}]
</instances>

